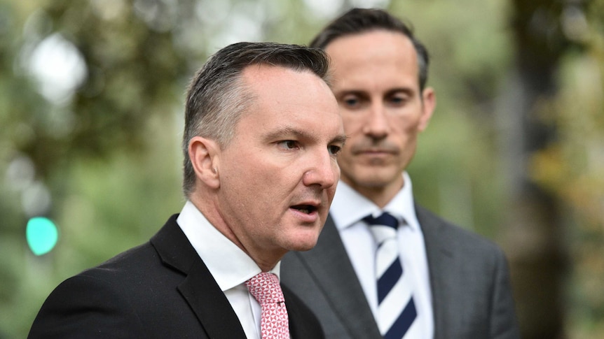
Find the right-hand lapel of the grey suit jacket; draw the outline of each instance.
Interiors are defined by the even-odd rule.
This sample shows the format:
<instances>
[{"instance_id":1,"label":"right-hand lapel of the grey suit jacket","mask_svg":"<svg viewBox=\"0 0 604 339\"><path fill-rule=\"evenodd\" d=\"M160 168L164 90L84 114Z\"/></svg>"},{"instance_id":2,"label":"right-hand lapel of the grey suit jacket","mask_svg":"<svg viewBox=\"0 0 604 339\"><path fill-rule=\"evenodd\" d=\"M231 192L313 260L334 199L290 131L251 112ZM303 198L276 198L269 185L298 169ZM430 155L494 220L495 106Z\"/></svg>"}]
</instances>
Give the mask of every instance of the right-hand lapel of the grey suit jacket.
<instances>
[{"instance_id":1,"label":"right-hand lapel of the grey suit jacket","mask_svg":"<svg viewBox=\"0 0 604 339\"><path fill-rule=\"evenodd\" d=\"M451 285L458 282L455 278L453 253L443 246L446 243L446 227L444 222L432 215L427 210L416 205L418 221L422 228L428 269L430 271L430 289L432 289L432 308L434 313L434 338L444 338L444 329L449 327L449 312L447 305L451 306L451 296L455 291Z\"/></svg>"}]
</instances>

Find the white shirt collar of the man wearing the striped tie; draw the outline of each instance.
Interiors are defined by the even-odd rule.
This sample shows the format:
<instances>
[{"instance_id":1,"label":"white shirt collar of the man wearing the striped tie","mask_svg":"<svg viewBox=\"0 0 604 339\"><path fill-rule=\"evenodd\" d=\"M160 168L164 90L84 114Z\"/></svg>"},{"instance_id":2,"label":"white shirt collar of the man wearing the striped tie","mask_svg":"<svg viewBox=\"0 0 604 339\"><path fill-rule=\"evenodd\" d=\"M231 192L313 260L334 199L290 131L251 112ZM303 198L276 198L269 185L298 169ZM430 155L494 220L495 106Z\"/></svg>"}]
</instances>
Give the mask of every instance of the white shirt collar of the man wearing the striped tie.
<instances>
[{"instance_id":1,"label":"white shirt collar of the man wearing the striped tie","mask_svg":"<svg viewBox=\"0 0 604 339\"><path fill-rule=\"evenodd\" d=\"M403 217L412 230L418 230L420 225L413 201L411 178L406 171L402 175L404 179L402 189L387 203L383 210L345 182L338 182L334 201L331 202L331 209L329 210L338 229L346 229L369 214L377 216L382 212L390 212L393 215Z\"/></svg>"}]
</instances>

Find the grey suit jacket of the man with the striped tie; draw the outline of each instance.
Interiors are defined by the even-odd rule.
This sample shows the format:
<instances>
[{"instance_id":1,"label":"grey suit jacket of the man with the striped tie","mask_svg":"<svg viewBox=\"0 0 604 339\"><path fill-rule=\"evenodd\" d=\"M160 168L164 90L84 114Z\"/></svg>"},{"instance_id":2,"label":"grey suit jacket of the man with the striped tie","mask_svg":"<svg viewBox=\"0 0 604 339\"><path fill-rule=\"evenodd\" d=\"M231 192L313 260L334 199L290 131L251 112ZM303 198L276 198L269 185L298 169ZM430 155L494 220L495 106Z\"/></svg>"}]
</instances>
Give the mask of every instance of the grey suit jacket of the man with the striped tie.
<instances>
[{"instance_id":1,"label":"grey suit jacket of the man with the striped tie","mask_svg":"<svg viewBox=\"0 0 604 339\"><path fill-rule=\"evenodd\" d=\"M430 271L434 338L519 338L499 247L419 206L416 212ZM382 338L331 217L313 250L282 259L281 281L315 312L327 338Z\"/></svg>"}]
</instances>

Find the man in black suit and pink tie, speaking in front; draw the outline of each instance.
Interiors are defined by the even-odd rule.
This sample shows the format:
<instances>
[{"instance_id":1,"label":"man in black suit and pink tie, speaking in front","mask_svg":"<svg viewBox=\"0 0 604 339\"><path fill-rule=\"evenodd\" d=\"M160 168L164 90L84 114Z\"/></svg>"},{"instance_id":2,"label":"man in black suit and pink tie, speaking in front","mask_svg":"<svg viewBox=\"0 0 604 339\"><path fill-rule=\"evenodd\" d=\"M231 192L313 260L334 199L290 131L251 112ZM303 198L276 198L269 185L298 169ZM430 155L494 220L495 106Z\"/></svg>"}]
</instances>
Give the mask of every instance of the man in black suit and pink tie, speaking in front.
<instances>
[{"instance_id":1,"label":"man in black suit and pink tie, speaking in front","mask_svg":"<svg viewBox=\"0 0 604 339\"><path fill-rule=\"evenodd\" d=\"M315 245L339 178L328 64L296 45L219 50L188 89L184 208L62 282L29 338L323 338L278 276L287 251Z\"/></svg>"}]
</instances>

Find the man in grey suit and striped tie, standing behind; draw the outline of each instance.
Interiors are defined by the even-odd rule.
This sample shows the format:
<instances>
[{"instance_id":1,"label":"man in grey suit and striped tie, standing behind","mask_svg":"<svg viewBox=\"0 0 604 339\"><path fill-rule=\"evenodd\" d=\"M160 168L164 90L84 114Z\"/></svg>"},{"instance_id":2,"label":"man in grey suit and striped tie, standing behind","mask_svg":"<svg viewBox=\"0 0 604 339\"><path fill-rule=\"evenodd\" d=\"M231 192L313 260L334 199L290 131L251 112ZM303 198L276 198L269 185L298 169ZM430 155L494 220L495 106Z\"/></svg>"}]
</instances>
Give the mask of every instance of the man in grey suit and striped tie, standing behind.
<instances>
[{"instance_id":1,"label":"man in grey suit and striped tie, standing behind","mask_svg":"<svg viewBox=\"0 0 604 339\"><path fill-rule=\"evenodd\" d=\"M282 282L327 338L519 338L502 251L413 201L405 168L436 104L425 47L371 9L345 13L311 46L331 58L348 140L317 246L284 257Z\"/></svg>"}]
</instances>

